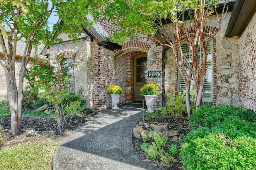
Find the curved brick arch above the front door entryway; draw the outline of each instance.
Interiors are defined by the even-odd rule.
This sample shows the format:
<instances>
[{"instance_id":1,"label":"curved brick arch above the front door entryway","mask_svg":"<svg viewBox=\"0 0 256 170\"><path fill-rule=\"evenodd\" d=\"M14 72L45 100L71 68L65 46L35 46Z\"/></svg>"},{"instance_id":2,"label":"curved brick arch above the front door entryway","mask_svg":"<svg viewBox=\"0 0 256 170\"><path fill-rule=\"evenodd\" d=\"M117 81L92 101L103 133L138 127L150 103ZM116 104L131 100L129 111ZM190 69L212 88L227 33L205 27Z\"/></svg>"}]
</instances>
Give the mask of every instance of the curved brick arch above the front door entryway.
<instances>
[{"instance_id":1,"label":"curved brick arch above the front door entryway","mask_svg":"<svg viewBox=\"0 0 256 170\"><path fill-rule=\"evenodd\" d=\"M122 43L122 49L116 50L116 56L124 55L125 53L141 51L148 53L150 48L152 47L151 44L144 43L141 41L129 41L126 43Z\"/></svg>"}]
</instances>

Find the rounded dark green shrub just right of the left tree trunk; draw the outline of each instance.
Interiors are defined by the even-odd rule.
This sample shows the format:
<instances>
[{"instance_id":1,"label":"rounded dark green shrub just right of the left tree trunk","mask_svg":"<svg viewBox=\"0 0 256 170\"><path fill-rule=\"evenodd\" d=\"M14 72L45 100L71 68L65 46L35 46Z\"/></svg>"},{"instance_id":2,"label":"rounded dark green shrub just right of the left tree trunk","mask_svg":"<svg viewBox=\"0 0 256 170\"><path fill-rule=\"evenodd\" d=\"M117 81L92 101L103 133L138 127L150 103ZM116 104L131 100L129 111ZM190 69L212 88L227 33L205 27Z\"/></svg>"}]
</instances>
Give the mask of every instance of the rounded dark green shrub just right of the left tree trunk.
<instances>
[{"instance_id":1,"label":"rounded dark green shrub just right of the left tree trunk","mask_svg":"<svg viewBox=\"0 0 256 170\"><path fill-rule=\"evenodd\" d=\"M31 90L24 90L23 92L23 110L33 109L32 104L36 103L39 100L39 96L36 92Z\"/></svg>"}]
</instances>

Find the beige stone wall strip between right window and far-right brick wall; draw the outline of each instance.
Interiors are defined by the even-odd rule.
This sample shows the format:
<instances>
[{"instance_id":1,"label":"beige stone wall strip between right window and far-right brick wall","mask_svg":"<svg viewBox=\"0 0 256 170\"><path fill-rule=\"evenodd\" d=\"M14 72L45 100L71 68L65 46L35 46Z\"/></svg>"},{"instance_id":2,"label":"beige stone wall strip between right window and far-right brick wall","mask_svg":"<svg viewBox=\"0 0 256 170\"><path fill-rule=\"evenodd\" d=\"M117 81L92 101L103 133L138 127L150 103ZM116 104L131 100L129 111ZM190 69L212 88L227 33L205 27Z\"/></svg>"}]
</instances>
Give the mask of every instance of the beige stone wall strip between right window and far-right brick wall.
<instances>
[{"instance_id":1,"label":"beige stone wall strip between right window and far-right brick wall","mask_svg":"<svg viewBox=\"0 0 256 170\"><path fill-rule=\"evenodd\" d=\"M239 106L238 37L216 39L217 104Z\"/></svg>"}]
</instances>

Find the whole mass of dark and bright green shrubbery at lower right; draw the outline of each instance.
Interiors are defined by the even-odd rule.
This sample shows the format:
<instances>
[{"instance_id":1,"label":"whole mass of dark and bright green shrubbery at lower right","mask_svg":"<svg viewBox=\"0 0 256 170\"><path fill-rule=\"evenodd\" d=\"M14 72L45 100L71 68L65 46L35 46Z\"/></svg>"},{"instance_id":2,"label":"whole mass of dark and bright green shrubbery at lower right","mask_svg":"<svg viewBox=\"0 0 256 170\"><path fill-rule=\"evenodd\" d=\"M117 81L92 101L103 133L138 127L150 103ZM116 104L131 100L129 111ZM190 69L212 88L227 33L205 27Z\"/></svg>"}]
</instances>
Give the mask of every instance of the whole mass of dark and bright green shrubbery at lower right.
<instances>
[{"instance_id":1,"label":"whole mass of dark and bright green shrubbery at lower right","mask_svg":"<svg viewBox=\"0 0 256 170\"><path fill-rule=\"evenodd\" d=\"M184 169L256 169L256 113L244 107L203 105L188 117L181 147Z\"/></svg>"}]
</instances>

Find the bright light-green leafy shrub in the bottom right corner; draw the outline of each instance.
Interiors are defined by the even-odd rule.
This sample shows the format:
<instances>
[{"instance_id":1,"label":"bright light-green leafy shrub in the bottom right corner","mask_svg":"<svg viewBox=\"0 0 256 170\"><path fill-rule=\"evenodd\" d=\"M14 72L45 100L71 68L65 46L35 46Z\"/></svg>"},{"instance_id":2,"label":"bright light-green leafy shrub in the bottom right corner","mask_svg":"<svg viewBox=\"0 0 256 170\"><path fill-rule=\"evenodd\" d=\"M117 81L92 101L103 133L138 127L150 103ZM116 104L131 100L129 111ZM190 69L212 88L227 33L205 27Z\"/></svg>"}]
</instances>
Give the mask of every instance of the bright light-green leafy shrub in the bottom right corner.
<instances>
[{"instance_id":1,"label":"bright light-green leafy shrub in the bottom right corner","mask_svg":"<svg viewBox=\"0 0 256 170\"><path fill-rule=\"evenodd\" d=\"M183 168L197 170L231 170L256 168L256 139L229 139L220 133L184 143L180 151Z\"/></svg>"}]
</instances>

